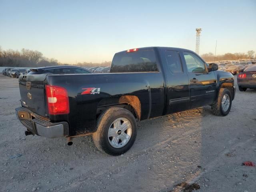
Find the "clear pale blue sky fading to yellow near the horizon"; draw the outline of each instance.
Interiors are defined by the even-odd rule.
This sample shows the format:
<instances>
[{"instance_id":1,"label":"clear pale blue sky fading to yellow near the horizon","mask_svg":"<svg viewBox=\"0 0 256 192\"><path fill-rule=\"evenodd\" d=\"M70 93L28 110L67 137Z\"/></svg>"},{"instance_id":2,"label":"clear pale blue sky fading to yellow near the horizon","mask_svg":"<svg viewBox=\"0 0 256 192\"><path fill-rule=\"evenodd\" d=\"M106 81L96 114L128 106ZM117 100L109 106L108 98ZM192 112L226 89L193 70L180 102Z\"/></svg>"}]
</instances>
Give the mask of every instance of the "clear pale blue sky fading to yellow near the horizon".
<instances>
[{"instance_id":1,"label":"clear pale blue sky fading to yellow near the horizon","mask_svg":"<svg viewBox=\"0 0 256 192\"><path fill-rule=\"evenodd\" d=\"M146 46L200 54L256 51L256 0L0 0L2 49L38 50L62 63L111 61Z\"/></svg>"}]
</instances>

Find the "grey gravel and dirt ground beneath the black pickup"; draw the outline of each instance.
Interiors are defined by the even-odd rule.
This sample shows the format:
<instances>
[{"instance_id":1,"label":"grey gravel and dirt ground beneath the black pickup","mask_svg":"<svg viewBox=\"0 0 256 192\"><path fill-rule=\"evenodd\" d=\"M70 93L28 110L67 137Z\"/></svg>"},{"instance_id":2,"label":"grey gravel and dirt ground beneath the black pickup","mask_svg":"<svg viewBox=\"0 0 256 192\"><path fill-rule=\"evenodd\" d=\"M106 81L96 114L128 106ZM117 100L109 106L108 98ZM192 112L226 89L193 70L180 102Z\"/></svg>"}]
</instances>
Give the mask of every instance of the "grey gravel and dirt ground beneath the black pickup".
<instances>
[{"instance_id":1,"label":"grey gravel and dirt ground beneath the black pickup","mask_svg":"<svg viewBox=\"0 0 256 192\"><path fill-rule=\"evenodd\" d=\"M256 163L256 90L237 90L226 117L206 106L142 121L134 146L115 157L91 136L72 146L25 136L19 100L18 80L0 74L1 192L177 192L182 182L198 184L196 192L256 191L256 167L242 166Z\"/></svg>"}]
</instances>

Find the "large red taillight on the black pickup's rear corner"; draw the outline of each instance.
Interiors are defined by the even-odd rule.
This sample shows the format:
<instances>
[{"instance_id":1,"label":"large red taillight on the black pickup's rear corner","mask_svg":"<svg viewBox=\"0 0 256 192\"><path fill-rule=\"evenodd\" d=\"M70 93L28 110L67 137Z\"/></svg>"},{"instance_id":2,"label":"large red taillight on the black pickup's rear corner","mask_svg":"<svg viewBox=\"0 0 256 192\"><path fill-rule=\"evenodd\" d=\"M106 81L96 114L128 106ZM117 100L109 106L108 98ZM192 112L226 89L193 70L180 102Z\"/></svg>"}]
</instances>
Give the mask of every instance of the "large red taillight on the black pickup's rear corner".
<instances>
[{"instance_id":1,"label":"large red taillight on the black pickup's rear corner","mask_svg":"<svg viewBox=\"0 0 256 192\"><path fill-rule=\"evenodd\" d=\"M59 86L46 85L46 98L50 115L68 114L68 92Z\"/></svg>"}]
</instances>

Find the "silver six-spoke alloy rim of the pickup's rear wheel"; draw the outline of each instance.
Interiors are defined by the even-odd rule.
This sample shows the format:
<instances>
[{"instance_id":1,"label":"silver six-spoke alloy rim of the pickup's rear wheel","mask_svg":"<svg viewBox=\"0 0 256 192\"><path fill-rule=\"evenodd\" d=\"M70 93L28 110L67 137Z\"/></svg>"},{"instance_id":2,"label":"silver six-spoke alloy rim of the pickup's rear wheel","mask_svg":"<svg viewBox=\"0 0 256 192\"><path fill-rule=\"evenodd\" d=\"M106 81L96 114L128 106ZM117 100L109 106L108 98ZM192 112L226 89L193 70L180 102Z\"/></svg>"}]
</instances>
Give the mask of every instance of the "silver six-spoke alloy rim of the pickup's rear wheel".
<instances>
[{"instance_id":1,"label":"silver six-spoke alloy rim of the pickup's rear wheel","mask_svg":"<svg viewBox=\"0 0 256 192\"><path fill-rule=\"evenodd\" d=\"M108 142L114 148L125 146L132 135L132 124L126 118L118 118L108 128Z\"/></svg>"}]
</instances>

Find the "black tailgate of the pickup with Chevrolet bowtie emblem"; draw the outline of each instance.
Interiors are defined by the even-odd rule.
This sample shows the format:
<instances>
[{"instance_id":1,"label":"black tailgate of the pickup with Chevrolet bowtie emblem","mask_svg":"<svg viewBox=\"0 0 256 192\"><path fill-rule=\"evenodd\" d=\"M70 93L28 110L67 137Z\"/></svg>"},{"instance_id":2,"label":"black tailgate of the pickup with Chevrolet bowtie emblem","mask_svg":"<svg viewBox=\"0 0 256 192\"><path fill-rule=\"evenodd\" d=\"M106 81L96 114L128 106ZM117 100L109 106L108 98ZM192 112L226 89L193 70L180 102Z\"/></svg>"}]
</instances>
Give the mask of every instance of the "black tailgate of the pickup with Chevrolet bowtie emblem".
<instances>
[{"instance_id":1,"label":"black tailgate of the pickup with Chevrolet bowtie emblem","mask_svg":"<svg viewBox=\"0 0 256 192\"><path fill-rule=\"evenodd\" d=\"M46 76L46 74L42 74L19 77L22 106L41 116L47 116L48 114L45 96Z\"/></svg>"}]
</instances>

